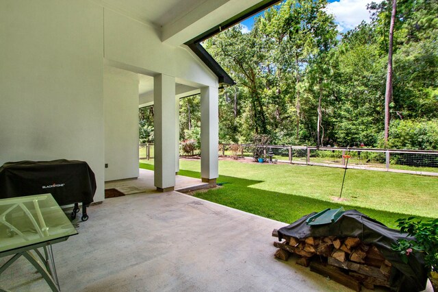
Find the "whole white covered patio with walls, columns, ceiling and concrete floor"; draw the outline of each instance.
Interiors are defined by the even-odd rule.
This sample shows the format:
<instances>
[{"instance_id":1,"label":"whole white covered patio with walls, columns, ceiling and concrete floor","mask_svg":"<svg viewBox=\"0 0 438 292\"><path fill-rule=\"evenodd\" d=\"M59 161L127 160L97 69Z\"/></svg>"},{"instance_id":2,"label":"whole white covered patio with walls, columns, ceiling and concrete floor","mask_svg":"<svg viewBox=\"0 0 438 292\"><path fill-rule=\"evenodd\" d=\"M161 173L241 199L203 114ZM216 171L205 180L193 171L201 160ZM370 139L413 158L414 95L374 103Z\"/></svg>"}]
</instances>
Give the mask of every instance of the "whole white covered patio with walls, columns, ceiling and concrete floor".
<instances>
[{"instance_id":1,"label":"whole white covered patio with walls, columns, ceiling and concrete floor","mask_svg":"<svg viewBox=\"0 0 438 292\"><path fill-rule=\"evenodd\" d=\"M96 177L101 204L73 222L79 234L53 245L61 289L348 291L274 258L271 232L286 223L179 192L216 185L218 92L233 84L200 42L278 0L181 2L3 1L0 165L81 160ZM178 102L193 93L201 97L196 181L176 175ZM143 104L154 105L155 173L138 169ZM105 199L105 188L122 186L141 189ZM1 274L2 289L50 291L24 258Z\"/></svg>"}]
</instances>

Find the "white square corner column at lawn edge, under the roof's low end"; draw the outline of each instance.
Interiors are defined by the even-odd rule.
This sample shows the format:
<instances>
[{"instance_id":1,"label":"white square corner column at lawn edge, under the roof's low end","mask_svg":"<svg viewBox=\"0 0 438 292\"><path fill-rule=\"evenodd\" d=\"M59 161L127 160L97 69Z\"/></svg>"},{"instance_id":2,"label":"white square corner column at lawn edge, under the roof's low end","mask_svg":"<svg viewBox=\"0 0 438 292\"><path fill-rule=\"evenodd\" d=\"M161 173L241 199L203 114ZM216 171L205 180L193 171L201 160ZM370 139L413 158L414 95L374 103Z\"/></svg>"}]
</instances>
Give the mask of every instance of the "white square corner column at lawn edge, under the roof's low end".
<instances>
[{"instance_id":1,"label":"white square corner column at lawn edge, under the roof's low end","mask_svg":"<svg viewBox=\"0 0 438 292\"><path fill-rule=\"evenodd\" d=\"M214 186L219 176L218 94L218 88L201 88L201 178Z\"/></svg>"}]
</instances>

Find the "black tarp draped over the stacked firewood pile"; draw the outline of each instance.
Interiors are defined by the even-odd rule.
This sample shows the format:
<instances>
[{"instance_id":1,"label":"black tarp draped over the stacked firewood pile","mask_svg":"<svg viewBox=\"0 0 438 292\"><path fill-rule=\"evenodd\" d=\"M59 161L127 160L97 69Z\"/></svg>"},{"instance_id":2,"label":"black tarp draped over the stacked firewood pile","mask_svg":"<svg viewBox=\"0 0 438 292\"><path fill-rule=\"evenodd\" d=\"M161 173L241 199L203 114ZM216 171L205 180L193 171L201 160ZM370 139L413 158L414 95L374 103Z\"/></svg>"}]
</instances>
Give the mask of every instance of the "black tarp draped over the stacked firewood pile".
<instances>
[{"instance_id":1,"label":"black tarp draped over the stacked firewood pile","mask_svg":"<svg viewBox=\"0 0 438 292\"><path fill-rule=\"evenodd\" d=\"M413 239L400 230L387 228L382 223L371 219L357 210L347 210L334 223L320 226L309 226L307 218L315 215L313 212L298 219L289 226L280 228L279 241L283 236L294 236L298 239L314 236L359 237L365 244L375 245L391 263L389 282L394 291L422 291L426 289L427 269L420 253L410 254L407 264L403 263L399 254L391 250L391 245L398 239Z\"/></svg>"}]
</instances>

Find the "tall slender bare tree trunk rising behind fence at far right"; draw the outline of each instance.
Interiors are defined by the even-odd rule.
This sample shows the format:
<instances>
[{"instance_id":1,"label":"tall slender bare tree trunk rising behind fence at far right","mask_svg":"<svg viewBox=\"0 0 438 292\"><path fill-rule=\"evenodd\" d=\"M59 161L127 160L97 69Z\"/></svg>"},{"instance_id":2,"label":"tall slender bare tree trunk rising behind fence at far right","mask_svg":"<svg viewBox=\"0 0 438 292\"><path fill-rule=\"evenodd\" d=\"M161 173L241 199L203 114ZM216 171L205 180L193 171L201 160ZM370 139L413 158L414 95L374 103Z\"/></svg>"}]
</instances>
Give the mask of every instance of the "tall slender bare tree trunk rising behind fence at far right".
<instances>
[{"instance_id":1,"label":"tall slender bare tree trunk rising behind fence at far right","mask_svg":"<svg viewBox=\"0 0 438 292\"><path fill-rule=\"evenodd\" d=\"M391 24L389 25L389 47L388 47L388 71L386 76L385 90L385 146L389 136L389 103L392 97L392 50L394 42L394 22L396 21L397 0L392 0Z\"/></svg>"}]
</instances>

